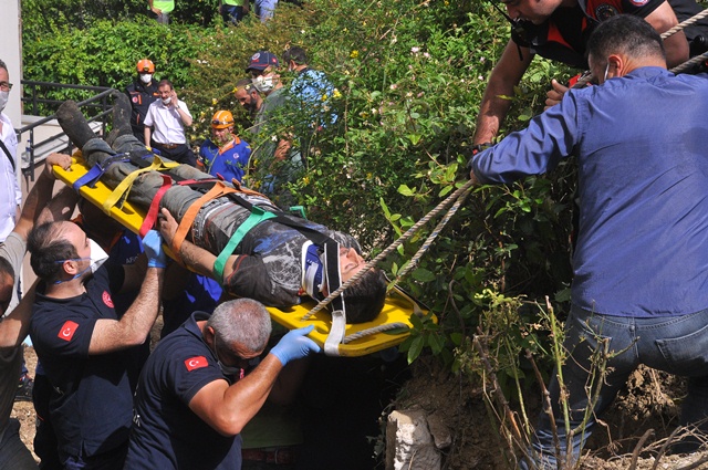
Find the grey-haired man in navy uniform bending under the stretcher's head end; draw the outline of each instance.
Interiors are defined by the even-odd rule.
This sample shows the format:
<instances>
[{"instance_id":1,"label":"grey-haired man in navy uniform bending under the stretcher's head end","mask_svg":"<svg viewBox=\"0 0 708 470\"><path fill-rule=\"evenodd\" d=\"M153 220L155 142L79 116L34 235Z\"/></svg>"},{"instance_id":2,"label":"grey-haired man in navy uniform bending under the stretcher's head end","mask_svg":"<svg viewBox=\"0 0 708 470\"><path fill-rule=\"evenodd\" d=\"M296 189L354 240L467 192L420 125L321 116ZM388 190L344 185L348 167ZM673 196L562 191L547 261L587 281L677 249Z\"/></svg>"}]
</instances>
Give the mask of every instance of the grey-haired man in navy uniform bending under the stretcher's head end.
<instances>
[{"instance_id":1,"label":"grey-haired man in navy uniform bending under the stretcher's head end","mask_svg":"<svg viewBox=\"0 0 708 470\"><path fill-rule=\"evenodd\" d=\"M293 330L248 375L271 333L263 305L237 299L209 316L195 312L157 345L140 374L125 468L241 468L243 426L261 408L283 367L320 347Z\"/></svg>"}]
</instances>

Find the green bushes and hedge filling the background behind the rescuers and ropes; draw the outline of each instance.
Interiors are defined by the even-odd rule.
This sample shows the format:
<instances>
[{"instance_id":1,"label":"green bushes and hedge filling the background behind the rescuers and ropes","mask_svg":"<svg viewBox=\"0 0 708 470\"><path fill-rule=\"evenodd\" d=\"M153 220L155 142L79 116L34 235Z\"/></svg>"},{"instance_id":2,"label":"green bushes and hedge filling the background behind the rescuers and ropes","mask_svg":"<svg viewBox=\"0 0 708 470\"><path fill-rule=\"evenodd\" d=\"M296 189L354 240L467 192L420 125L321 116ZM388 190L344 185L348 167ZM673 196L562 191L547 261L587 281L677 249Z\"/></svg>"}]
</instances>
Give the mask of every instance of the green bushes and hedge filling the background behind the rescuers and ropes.
<instances>
[{"instance_id":1,"label":"green bushes and hedge filling the background behind the rescuers and ropes","mask_svg":"<svg viewBox=\"0 0 708 470\"><path fill-rule=\"evenodd\" d=\"M237 28L222 25L211 0L189 2L189 12L178 0L169 27L147 19L143 1L49 3L22 2L24 79L123 90L136 61L148 56L157 77L173 80L190 106L192 144L218 108L231 109L237 127L248 126L231 92L254 51L281 55L289 44L304 46L311 65L336 86L329 98L339 119L316 134L308 171L292 189L310 218L355 231L372 255L467 180L478 104L509 36L488 1L281 2L268 24L249 18ZM51 21L41 15L46 11L56 13ZM570 74L537 60L509 97L514 106L504 132L541 111L551 77ZM62 93L54 97L71 96ZM282 116L275 133L302 129L296 114ZM400 280L440 320L417 322L404 345L410 361L429 351L451 369L481 376L468 340L480 334L502 387L535 379L522 352L551 361L543 299L554 301L561 318L568 307L574 180L566 163L552 175L470 195ZM385 260L389 275L406 267L431 227Z\"/></svg>"}]
</instances>

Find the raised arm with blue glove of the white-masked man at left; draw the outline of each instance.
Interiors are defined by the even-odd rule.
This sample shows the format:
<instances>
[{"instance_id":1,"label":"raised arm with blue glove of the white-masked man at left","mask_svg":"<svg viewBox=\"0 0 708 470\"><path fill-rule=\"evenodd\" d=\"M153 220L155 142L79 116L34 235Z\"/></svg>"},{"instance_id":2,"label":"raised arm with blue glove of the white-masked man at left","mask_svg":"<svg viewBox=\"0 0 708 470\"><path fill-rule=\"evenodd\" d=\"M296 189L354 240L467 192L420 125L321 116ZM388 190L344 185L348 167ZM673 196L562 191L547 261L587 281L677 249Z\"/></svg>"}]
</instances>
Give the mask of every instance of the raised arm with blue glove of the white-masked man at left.
<instances>
[{"instance_id":1,"label":"raised arm with blue glove of the white-masked man at left","mask_svg":"<svg viewBox=\"0 0 708 470\"><path fill-rule=\"evenodd\" d=\"M159 313L159 300L163 295L167 260L162 243L162 237L154 230L143 239L148 261L140 292L121 320L96 321L88 345L90 355L110 353L145 342Z\"/></svg>"}]
</instances>

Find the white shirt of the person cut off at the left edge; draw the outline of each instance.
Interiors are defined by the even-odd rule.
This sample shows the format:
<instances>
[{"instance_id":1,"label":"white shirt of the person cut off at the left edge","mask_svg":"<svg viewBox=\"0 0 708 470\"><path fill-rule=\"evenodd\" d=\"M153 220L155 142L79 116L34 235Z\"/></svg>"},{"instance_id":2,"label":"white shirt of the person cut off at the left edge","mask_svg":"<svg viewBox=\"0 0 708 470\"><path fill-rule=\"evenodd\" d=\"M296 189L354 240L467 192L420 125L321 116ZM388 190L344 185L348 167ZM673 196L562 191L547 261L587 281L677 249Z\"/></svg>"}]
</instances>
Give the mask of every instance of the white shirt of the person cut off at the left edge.
<instances>
[{"instance_id":1,"label":"white shirt of the person cut off at the left edge","mask_svg":"<svg viewBox=\"0 0 708 470\"><path fill-rule=\"evenodd\" d=\"M18 136L14 134L14 128L7 114L0 113L0 121L2 122L0 139L10 150L14 167L18 168ZM0 148L0 241L4 241L14 228L17 222L14 216L21 203L22 190L18 184L18 177L4 150Z\"/></svg>"}]
</instances>

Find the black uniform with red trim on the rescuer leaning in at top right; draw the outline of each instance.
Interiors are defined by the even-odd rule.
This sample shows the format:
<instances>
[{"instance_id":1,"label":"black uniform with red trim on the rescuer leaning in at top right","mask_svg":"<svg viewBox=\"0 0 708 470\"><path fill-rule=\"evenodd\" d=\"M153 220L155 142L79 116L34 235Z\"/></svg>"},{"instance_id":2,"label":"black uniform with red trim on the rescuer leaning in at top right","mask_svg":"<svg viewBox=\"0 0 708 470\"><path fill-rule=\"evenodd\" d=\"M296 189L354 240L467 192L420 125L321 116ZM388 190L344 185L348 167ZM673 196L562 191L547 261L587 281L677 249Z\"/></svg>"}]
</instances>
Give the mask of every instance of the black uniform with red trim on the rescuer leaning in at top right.
<instances>
[{"instance_id":1,"label":"black uniform with red trim on the rescuer leaning in at top right","mask_svg":"<svg viewBox=\"0 0 708 470\"><path fill-rule=\"evenodd\" d=\"M646 18L665 1L577 0L574 7L558 8L542 24L521 21L524 33L520 34L512 29L511 39L542 58L587 69L585 46L590 34L601 21L621 13ZM695 0L669 0L669 4L679 22L702 10ZM708 31L708 23L702 20L685 30L685 33L690 43L698 34L706 31Z\"/></svg>"}]
</instances>

